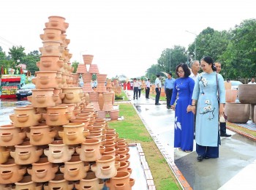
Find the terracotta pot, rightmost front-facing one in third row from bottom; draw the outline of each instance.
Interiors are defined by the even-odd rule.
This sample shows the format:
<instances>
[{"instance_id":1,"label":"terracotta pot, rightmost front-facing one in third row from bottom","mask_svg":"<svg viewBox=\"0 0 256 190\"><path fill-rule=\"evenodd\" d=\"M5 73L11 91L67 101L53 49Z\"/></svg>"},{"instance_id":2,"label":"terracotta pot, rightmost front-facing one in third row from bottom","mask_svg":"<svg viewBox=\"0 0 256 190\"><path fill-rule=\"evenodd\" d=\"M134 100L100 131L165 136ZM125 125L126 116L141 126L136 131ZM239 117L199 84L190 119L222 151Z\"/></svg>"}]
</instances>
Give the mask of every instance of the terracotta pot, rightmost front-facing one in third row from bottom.
<instances>
[{"instance_id":1,"label":"terracotta pot, rightmost front-facing one in third row from bottom","mask_svg":"<svg viewBox=\"0 0 256 190\"><path fill-rule=\"evenodd\" d=\"M100 146L100 142L101 140L97 139L86 139L81 147L75 148L75 151L80 155L80 160L96 161L100 159L105 151L105 147Z\"/></svg>"}]
</instances>

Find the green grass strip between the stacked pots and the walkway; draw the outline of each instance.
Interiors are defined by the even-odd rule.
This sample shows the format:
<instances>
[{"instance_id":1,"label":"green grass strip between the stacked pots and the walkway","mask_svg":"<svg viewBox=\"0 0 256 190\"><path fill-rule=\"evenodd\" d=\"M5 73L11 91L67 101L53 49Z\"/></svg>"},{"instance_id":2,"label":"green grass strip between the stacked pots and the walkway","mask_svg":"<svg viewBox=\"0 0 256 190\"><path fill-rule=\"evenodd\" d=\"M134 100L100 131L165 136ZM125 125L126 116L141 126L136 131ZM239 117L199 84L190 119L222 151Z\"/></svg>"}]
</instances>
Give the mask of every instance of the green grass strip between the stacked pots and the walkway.
<instances>
[{"instance_id":1,"label":"green grass strip between the stacked pots and the walkway","mask_svg":"<svg viewBox=\"0 0 256 190\"><path fill-rule=\"evenodd\" d=\"M170 170L132 104L119 104L119 110L119 115L123 115L124 120L109 121L109 126L116 129L119 137L125 138L127 142L141 144L156 188L162 190L181 189L172 170ZM137 183L139 182L137 181Z\"/></svg>"}]
</instances>

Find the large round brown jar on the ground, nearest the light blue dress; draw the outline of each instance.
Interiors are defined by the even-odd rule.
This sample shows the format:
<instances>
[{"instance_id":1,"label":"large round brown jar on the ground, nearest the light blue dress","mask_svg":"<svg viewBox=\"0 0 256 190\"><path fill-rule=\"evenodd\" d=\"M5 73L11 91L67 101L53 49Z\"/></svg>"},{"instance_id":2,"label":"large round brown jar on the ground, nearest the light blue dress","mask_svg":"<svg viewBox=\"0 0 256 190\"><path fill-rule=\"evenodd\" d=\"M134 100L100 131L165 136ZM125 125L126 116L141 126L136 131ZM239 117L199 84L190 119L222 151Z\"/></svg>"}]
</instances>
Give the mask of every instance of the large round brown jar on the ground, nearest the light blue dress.
<instances>
[{"instance_id":1,"label":"large round brown jar on the ground, nearest the light blue dress","mask_svg":"<svg viewBox=\"0 0 256 190\"><path fill-rule=\"evenodd\" d=\"M246 123L249 120L250 104L229 102L225 105L225 114L231 123Z\"/></svg>"}]
</instances>

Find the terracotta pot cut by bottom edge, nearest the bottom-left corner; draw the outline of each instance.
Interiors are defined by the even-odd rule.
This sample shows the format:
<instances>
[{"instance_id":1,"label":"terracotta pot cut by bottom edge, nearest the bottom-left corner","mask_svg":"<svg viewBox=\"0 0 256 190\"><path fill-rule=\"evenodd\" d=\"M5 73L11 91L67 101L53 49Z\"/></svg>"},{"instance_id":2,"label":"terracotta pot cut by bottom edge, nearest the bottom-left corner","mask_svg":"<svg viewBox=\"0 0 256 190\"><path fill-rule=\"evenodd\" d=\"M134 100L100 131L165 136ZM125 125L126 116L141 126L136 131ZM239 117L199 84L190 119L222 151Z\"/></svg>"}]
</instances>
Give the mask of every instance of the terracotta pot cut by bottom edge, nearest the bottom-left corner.
<instances>
[{"instance_id":1,"label":"terracotta pot cut by bottom edge, nearest the bottom-left corner","mask_svg":"<svg viewBox=\"0 0 256 190\"><path fill-rule=\"evenodd\" d=\"M28 189L28 190L41 190L42 189L42 183L34 183L31 180L31 175L26 175L23 177L22 180L19 182L15 183L15 190L23 190L23 189Z\"/></svg>"}]
</instances>

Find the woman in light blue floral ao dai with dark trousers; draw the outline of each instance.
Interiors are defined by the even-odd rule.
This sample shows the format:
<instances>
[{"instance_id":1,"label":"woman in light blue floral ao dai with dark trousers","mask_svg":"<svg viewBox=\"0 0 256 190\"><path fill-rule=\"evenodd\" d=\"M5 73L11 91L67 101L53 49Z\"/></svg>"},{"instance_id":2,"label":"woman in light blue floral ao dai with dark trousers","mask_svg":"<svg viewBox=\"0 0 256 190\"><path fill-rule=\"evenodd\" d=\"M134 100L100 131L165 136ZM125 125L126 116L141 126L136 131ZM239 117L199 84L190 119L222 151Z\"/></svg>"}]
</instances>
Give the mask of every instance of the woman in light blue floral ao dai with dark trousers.
<instances>
[{"instance_id":1,"label":"woman in light blue floral ao dai with dark trousers","mask_svg":"<svg viewBox=\"0 0 256 190\"><path fill-rule=\"evenodd\" d=\"M196 114L195 142L197 161L219 158L219 115L224 114L225 87L211 57L200 61L203 73L195 80L192 95L192 113ZM219 89L219 100L218 100ZM197 102L197 112L195 104Z\"/></svg>"}]
</instances>

